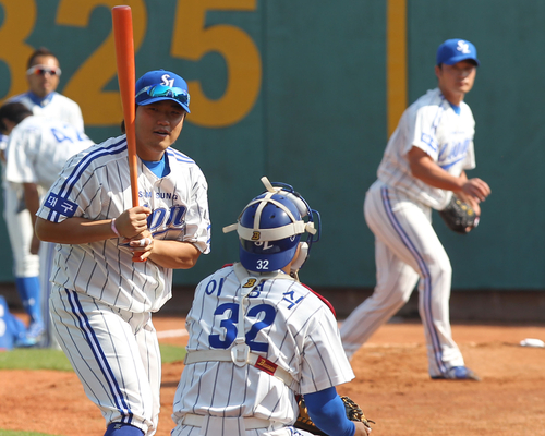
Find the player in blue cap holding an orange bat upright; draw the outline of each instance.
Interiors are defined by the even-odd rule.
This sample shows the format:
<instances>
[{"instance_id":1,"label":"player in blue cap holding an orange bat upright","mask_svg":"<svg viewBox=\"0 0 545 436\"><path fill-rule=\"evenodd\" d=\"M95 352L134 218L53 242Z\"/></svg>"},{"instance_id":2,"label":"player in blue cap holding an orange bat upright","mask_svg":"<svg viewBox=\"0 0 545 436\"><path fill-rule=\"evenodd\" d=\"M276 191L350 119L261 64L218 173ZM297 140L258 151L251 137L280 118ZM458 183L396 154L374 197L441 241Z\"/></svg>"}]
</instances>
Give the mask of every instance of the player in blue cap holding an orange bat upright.
<instances>
[{"instance_id":1,"label":"player in blue cap holding an orange bat upright","mask_svg":"<svg viewBox=\"0 0 545 436\"><path fill-rule=\"evenodd\" d=\"M161 361L152 313L171 296L172 269L209 252L205 177L171 147L189 104L178 74L136 81L140 205L131 206L122 135L72 157L38 210L38 238L57 242L53 328L108 436L156 432Z\"/></svg>"}]
</instances>

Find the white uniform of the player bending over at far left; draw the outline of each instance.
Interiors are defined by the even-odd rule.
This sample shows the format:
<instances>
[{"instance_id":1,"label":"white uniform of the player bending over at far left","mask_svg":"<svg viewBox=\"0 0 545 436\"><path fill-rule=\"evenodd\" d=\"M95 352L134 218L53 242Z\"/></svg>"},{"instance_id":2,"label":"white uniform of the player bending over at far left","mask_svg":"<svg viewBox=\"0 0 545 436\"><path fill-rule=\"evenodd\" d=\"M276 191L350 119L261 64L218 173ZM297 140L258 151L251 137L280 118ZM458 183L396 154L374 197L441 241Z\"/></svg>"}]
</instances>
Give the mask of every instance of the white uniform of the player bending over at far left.
<instances>
[{"instance_id":1,"label":"white uniform of the player bending over at far left","mask_svg":"<svg viewBox=\"0 0 545 436\"><path fill-rule=\"evenodd\" d=\"M9 136L5 180L19 186L35 183L40 194L44 194L57 180L66 160L92 145L93 141L71 124L46 117L27 117ZM21 241L15 239L11 243L16 245ZM44 347L49 347L52 339L49 319L52 250L53 244L40 243L41 315L46 329L41 343Z\"/></svg>"}]
</instances>

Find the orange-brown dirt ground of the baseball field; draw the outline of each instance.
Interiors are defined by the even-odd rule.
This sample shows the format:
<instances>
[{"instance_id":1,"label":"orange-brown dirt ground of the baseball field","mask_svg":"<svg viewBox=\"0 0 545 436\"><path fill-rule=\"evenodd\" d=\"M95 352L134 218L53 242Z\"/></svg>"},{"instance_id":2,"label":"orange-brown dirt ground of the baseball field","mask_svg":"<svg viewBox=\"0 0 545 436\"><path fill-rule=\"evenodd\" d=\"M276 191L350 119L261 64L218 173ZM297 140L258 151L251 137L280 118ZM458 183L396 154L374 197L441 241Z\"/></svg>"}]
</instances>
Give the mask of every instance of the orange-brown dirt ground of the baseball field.
<instances>
[{"instance_id":1,"label":"orange-brown dirt ground of the baseball field","mask_svg":"<svg viewBox=\"0 0 545 436\"><path fill-rule=\"evenodd\" d=\"M157 317L158 331L180 330L182 318ZM376 421L373 435L545 435L545 326L453 325L468 366L483 380L431 380L424 332L416 322L387 324L355 355L355 380L340 386ZM162 342L184 346L185 337ZM170 412L182 363L164 366L158 436L172 429ZM0 428L98 436L105 423L75 374L0 372Z\"/></svg>"}]
</instances>

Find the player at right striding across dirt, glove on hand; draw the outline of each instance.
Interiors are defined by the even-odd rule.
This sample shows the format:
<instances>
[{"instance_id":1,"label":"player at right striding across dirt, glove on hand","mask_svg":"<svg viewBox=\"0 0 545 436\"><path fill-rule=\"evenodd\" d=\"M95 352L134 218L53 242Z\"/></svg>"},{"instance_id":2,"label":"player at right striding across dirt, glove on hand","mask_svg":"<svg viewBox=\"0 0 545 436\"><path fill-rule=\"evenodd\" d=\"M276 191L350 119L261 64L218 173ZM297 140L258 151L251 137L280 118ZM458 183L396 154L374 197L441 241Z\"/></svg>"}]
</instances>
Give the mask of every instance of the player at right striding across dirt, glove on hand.
<instances>
[{"instance_id":1,"label":"player at right striding across dirt, glove on hand","mask_svg":"<svg viewBox=\"0 0 545 436\"><path fill-rule=\"evenodd\" d=\"M473 44L449 39L437 50L438 87L401 117L364 203L375 234L376 287L346 319L341 337L352 354L409 300L416 282L432 378L477 379L452 340L449 322L451 266L432 227L432 209L455 194L480 215L491 193L475 168L475 121L463 97L473 87L479 60Z\"/></svg>"}]
</instances>

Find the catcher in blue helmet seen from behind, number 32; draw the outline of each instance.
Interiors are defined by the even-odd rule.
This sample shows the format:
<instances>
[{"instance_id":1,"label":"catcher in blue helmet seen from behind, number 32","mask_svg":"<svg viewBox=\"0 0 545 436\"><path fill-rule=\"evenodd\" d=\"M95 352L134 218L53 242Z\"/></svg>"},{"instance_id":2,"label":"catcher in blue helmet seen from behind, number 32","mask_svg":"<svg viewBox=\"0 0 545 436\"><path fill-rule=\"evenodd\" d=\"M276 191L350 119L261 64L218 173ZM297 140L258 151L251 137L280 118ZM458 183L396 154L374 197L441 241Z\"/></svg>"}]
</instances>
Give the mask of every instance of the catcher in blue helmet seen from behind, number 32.
<instances>
[{"instance_id":1,"label":"catcher in blue helmet seen from behind, number 32","mask_svg":"<svg viewBox=\"0 0 545 436\"><path fill-rule=\"evenodd\" d=\"M367 436L358 405L337 395L354 374L332 307L298 280L319 215L291 186L262 181L265 193L223 228L238 232L240 263L196 288L171 435Z\"/></svg>"}]
</instances>

